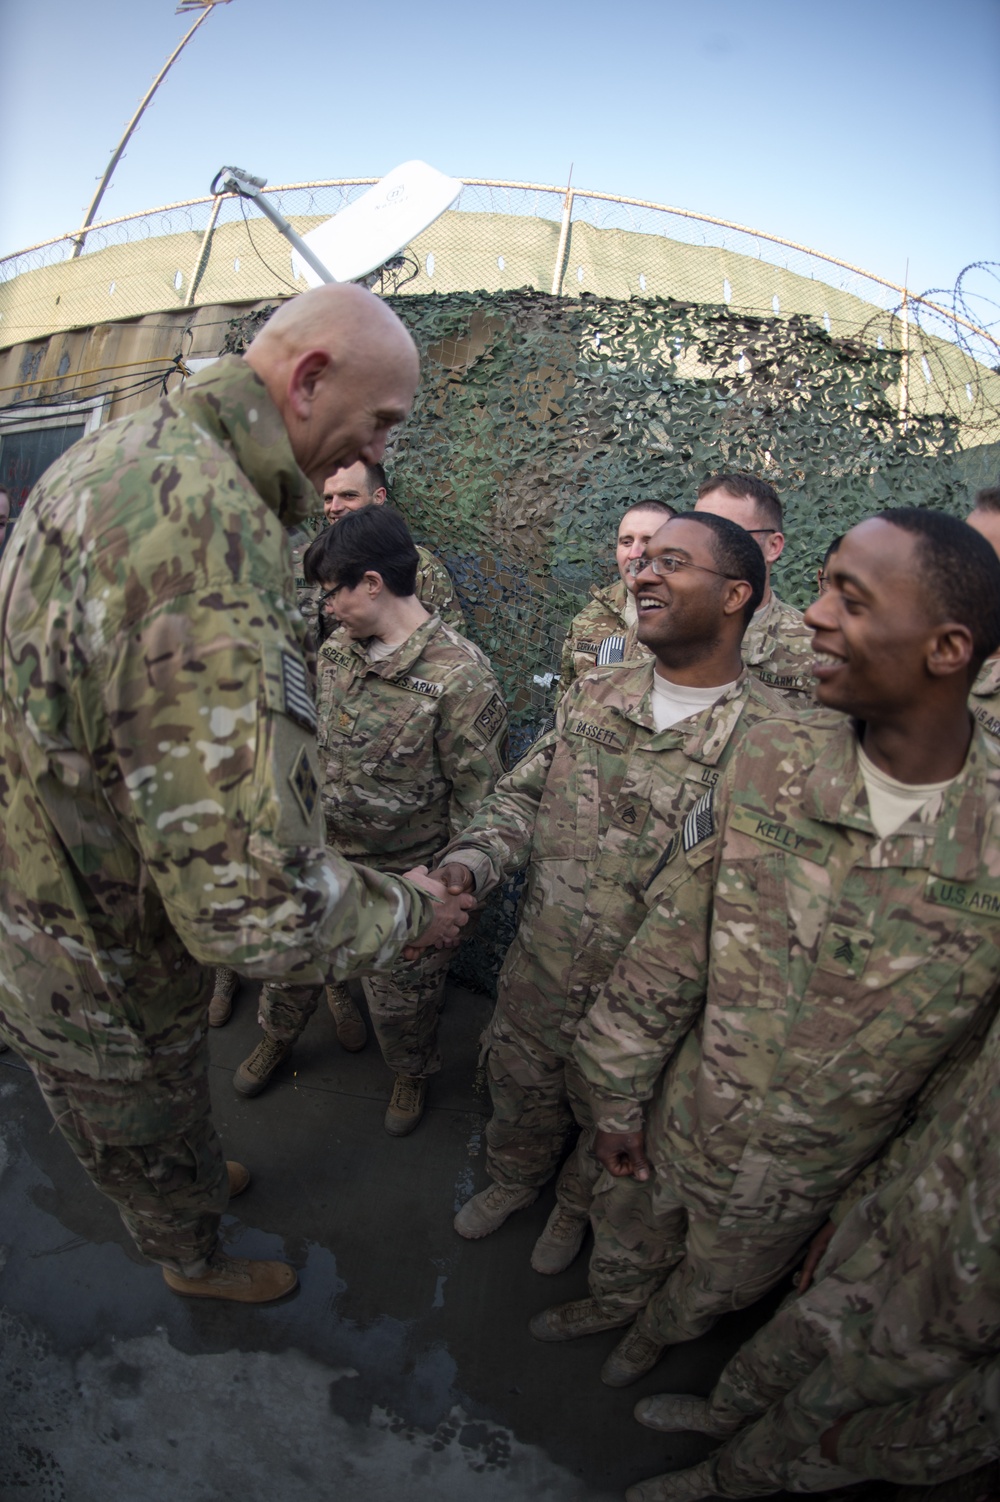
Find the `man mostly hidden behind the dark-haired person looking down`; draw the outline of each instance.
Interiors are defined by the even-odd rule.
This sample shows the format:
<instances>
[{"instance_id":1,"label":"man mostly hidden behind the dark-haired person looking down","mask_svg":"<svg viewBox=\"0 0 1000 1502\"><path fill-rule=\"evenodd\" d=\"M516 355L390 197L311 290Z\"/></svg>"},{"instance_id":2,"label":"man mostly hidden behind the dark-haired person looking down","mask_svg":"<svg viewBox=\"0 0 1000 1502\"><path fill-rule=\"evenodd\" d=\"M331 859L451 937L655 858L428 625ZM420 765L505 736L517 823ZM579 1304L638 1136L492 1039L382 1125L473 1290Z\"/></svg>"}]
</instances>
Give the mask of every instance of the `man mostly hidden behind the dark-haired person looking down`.
<instances>
[{"instance_id":1,"label":"man mostly hidden behind the dark-haired person looking down","mask_svg":"<svg viewBox=\"0 0 1000 1502\"><path fill-rule=\"evenodd\" d=\"M386 472L381 464L369 464L357 460L354 464L342 466L327 475L323 482L323 514L332 526L341 517L360 511L363 506L384 506L387 497ZM323 614L323 590L317 584L309 584L303 572L303 559L312 542L315 542L323 524L318 518L309 517L293 532L291 569L296 583L299 610L305 616L306 625L314 629L317 638L330 629L330 617ZM432 616L440 616L446 626L453 631L465 631L465 620L455 598L452 577L432 553L417 547L417 599ZM324 623L326 622L326 623ZM318 625L318 631L315 626ZM209 1023L222 1027L233 1015L233 999L239 985L239 976L230 966L219 966L215 972L212 1000L209 1002ZM347 996L348 993L344 991ZM351 1003L353 1006L353 1003ZM341 1041L345 1048L365 1047L365 1026L357 1009L353 1009L354 1020L345 1015L345 1029ZM351 1042L353 1036L353 1042Z\"/></svg>"}]
</instances>

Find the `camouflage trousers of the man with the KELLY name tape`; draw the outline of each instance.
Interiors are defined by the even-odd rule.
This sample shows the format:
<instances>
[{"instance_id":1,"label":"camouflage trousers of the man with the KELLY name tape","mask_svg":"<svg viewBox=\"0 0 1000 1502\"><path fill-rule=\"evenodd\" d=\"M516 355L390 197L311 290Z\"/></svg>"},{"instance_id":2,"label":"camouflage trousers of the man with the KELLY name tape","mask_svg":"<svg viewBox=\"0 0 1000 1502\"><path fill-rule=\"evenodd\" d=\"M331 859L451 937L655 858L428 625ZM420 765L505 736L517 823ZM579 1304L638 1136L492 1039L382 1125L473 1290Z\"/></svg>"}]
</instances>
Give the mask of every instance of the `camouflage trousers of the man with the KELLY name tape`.
<instances>
[{"instance_id":1,"label":"camouflage trousers of the man with the KELLY name tape","mask_svg":"<svg viewBox=\"0 0 1000 1502\"><path fill-rule=\"evenodd\" d=\"M607 1313L641 1310L638 1326L661 1346L695 1340L773 1289L824 1218L821 1208L794 1227L722 1227L710 1211L688 1209L659 1175L637 1184L605 1173L590 1206L590 1292Z\"/></svg>"}]
</instances>

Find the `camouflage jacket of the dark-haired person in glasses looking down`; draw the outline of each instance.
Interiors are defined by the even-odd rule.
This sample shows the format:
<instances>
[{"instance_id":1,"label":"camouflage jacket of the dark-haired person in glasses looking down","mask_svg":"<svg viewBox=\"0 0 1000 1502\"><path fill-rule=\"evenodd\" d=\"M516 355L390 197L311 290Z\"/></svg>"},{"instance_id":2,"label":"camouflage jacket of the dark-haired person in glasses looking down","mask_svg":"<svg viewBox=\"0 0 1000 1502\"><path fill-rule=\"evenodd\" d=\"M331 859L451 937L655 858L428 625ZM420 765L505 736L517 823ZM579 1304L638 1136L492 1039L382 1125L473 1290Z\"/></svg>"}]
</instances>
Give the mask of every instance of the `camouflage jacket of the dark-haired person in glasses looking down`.
<instances>
[{"instance_id":1,"label":"camouflage jacket of the dark-haired person in glasses looking down","mask_svg":"<svg viewBox=\"0 0 1000 1502\"><path fill-rule=\"evenodd\" d=\"M431 616L377 662L335 631L318 677L330 843L380 871L429 864L506 768L508 712L489 659Z\"/></svg>"}]
</instances>

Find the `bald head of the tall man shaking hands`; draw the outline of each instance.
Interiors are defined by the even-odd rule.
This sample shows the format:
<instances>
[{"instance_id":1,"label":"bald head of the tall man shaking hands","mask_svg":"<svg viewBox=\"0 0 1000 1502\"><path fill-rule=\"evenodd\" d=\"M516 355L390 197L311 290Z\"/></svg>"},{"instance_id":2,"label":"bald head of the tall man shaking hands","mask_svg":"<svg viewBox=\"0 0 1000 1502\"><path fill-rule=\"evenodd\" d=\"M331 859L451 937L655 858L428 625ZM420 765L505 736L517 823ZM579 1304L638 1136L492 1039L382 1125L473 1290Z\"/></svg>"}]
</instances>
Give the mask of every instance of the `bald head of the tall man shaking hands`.
<instances>
[{"instance_id":1,"label":"bald head of the tall man shaking hands","mask_svg":"<svg viewBox=\"0 0 1000 1502\"><path fill-rule=\"evenodd\" d=\"M395 312L351 282L282 303L243 357L267 388L296 461L317 490L335 469L381 463L420 374L416 345Z\"/></svg>"}]
</instances>

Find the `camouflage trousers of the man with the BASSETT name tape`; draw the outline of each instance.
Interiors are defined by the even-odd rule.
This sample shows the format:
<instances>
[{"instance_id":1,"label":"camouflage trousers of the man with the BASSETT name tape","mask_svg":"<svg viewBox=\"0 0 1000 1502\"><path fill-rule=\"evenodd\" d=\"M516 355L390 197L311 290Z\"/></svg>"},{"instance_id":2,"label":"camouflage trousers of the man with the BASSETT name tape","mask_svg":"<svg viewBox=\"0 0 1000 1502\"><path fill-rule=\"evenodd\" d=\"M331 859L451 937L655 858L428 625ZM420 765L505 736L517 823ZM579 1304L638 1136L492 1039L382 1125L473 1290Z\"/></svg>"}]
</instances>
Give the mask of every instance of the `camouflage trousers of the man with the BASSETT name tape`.
<instances>
[{"instance_id":1,"label":"camouflage trousers of the man with the BASSETT name tape","mask_svg":"<svg viewBox=\"0 0 1000 1502\"><path fill-rule=\"evenodd\" d=\"M572 1042L533 1036L503 1005L483 1036L492 1116L486 1125L486 1170L497 1184L539 1188L559 1167L578 1126L593 1125ZM586 1166L586 1158L581 1160ZM587 1214L590 1184L568 1160L560 1203Z\"/></svg>"}]
</instances>

